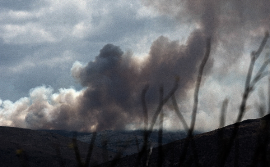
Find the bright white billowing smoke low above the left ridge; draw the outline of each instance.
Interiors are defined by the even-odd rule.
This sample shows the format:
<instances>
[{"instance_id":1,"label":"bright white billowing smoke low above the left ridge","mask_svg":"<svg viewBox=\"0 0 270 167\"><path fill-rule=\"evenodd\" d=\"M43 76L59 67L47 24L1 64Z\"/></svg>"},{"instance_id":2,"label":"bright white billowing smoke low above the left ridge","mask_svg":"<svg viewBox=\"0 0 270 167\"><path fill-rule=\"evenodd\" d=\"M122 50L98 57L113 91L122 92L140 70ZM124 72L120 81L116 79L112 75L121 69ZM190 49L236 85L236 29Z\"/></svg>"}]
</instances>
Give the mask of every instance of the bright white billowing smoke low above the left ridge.
<instances>
[{"instance_id":1,"label":"bright white billowing smoke low above the left ridge","mask_svg":"<svg viewBox=\"0 0 270 167\"><path fill-rule=\"evenodd\" d=\"M30 129L57 129L61 122L57 122L63 105L76 108L77 98L84 90L76 91L73 88L61 88L53 93L53 88L45 85L32 88L29 97L23 97L16 102L0 100L0 125ZM71 125L76 124L76 112L67 113ZM72 128L72 126L67 127ZM75 128L75 127L74 127ZM74 129L75 130L75 129Z\"/></svg>"}]
</instances>

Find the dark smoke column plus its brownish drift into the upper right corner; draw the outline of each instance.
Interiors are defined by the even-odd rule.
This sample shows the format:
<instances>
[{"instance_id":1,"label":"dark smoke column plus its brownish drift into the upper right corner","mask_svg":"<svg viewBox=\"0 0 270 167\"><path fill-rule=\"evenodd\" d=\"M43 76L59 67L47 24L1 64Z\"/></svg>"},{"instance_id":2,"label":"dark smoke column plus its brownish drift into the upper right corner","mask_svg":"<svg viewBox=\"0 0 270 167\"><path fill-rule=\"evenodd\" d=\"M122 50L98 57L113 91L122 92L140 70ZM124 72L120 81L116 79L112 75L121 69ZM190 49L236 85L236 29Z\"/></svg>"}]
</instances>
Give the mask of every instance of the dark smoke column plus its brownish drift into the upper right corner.
<instances>
[{"instance_id":1,"label":"dark smoke column plus its brownish drift into the upper right corner","mask_svg":"<svg viewBox=\"0 0 270 167\"><path fill-rule=\"evenodd\" d=\"M166 94L175 75L180 76L177 95L184 99L186 90L193 86L208 36L212 38L212 51L219 54L219 50L224 50L220 56L227 63L220 69L226 71L230 63L243 54L246 36L257 41L256 38L263 36L270 26L268 0L147 0L143 3L175 16L179 22L191 20L198 29L190 34L185 45L161 36L153 42L149 56L140 64L130 53L107 44L95 61L86 66L74 66L73 77L87 87L79 98L77 110L80 117L85 118L81 127L87 124L94 125L97 130L121 129L129 123L142 121L142 88L150 84L146 99L151 115L158 103L160 84L165 86ZM212 65L213 59L208 62L206 74Z\"/></svg>"}]
</instances>

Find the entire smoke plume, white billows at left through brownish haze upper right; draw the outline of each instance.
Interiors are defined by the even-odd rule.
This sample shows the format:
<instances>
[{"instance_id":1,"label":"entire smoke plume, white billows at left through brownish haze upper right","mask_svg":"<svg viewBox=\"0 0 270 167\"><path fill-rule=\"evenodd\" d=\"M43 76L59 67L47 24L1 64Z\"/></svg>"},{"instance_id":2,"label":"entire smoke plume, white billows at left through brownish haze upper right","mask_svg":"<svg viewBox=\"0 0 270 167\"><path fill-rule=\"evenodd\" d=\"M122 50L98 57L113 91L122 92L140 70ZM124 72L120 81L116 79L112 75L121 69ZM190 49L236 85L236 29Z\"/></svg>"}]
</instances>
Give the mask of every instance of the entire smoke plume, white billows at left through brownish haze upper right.
<instances>
[{"instance_id":1,"label":"entire smoke plume, white billows at left through brownish haze upper right","mask_svg":"<svg viewBox=\"0 0 270 167\"><path fill-rule=\"evenodd\" d=\"M223 62L215 69L222 74L243 55L246 43L255 41L258 46L264 31L270 28L270 0L142 3L174 16L179 23L188 21L195 30L184 44L164 36L157 38L148 56L140 62L131 52L107 44L94 61L73 64L72 77L84 89L62 88L53 93L51 87L43 85L14 103L0 100L1 125L77 131L125 129L130 124L140 128L143 122L140 95L145 85L150 85L146 94L150 117L159 101L159 86L163 84L164 93L168 93L175 75L180 78L176 96L181 101L186 99L188 90L194 86L207 37L212 39L211 54L219 55L215 59ZM205 75L210 74L213 63L213 58L208 60ZM206 117L206 113L199 111L200 117Z\"/></svg>"}]
</instances>

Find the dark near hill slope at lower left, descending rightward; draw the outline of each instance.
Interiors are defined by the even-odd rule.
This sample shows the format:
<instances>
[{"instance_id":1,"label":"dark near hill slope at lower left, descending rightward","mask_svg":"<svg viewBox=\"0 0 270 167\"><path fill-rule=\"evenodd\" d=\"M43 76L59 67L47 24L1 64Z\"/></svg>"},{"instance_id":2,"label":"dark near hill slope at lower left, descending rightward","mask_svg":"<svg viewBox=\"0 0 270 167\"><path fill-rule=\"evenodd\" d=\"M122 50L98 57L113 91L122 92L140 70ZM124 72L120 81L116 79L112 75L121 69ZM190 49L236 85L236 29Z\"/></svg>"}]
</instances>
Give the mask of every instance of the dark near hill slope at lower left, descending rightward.
<instances>
[{"instance_id":1,"label":"dark near hill slope at lower left, descending rightward","mask_svg":"<svg viewBox=\"0 0 270 167\"><path fill-rule=\"evenodd\" d=\"M71 138L55 133L0 126L0 166L58 167L61 166L60 159L66 167L77 166L71 143ZM77 143L84 162L88 144ZM91 164L104 162L104 152L108 154L109 160L115 156L115 153L94 147Z\"/></svg>"}]
</instances>

